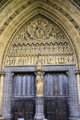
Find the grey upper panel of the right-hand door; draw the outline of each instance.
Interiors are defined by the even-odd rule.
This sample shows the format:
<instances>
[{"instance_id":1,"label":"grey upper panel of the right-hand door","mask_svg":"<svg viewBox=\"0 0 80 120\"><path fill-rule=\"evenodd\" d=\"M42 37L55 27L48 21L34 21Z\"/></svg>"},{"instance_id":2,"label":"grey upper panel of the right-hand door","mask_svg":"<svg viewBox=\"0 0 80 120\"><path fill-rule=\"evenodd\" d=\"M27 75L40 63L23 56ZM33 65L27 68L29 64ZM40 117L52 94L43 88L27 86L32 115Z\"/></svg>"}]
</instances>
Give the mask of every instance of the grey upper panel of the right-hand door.
<instances>
[{"instance_id":1,"label":"grey upper panel of the right-hand door","mask_svg":"<svg viewBox=\"0 0 80 120\"><path fill-rule=\"evenodd\" d=\"M68 77L65 73L46 73L44 76L44 96L67 96Z\"/></svg>"}]
</instances>

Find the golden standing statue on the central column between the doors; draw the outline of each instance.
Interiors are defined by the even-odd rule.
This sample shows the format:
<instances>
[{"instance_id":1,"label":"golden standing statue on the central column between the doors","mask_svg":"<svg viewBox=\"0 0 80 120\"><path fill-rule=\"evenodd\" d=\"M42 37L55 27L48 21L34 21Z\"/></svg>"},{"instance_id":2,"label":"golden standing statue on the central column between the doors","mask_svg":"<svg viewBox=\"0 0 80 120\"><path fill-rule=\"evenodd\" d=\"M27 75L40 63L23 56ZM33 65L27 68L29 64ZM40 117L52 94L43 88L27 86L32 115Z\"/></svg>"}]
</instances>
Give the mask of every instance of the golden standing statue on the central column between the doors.
<instances>
[{"instance_id":1,"label":"golden standing statue on the central column between the doors","mask_svg":"<svg viewBox=\"0 0 80 120\"><path fill-rule=\"evenodd\" d=\"M36 96L43 96L43 73L42 72L37 72Z\"/></svg>"}]
</instances>

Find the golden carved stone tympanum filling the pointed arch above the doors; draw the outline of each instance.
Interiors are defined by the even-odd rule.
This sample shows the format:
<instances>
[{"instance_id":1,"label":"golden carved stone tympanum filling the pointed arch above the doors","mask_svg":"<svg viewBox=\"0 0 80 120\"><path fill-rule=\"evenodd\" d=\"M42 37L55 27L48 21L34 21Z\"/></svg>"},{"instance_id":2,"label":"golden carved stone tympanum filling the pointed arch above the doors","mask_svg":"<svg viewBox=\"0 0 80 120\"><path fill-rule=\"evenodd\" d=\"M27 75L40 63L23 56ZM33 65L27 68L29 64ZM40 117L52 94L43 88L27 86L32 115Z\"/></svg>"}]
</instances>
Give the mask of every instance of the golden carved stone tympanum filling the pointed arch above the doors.
<instances>
[{"instance_id":1,"label":"golden carved stone tympanum filling the pointed arch above the doors","mask_svg":"<svg viewBox=\"0 0 80 120\"><path fill-rule=\"evenodd\" d=\"M32 20L19 33L8 49L6 65L75 63L70 43L61 29L41 17Z\"/></svg>"}]
</instances>

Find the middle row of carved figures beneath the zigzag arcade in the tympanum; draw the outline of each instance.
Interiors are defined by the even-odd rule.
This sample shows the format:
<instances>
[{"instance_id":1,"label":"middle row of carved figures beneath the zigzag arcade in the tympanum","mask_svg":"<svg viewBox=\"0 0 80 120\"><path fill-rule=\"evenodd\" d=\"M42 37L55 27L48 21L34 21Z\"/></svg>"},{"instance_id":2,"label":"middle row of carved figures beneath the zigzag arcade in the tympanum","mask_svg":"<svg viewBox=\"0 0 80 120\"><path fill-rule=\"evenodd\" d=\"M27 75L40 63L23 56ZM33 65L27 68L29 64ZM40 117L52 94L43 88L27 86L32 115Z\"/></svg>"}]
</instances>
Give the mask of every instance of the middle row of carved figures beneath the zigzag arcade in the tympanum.
<instances>
[{"instance_id":1,"label":"middle row of carved figures beneath the zigzag arcade in the tympanum","mask_svg":"<svg viewBox=\"0 0 80 120\"><path fill-rule=\"evenodd\" d=\"M14 45L11 50L10 53L31 53L31 52L67 52L69 51L69 45L67 43L65 43L64 45L62 43L60 43L59 45L57 43L55 43L54 45L27 45L27 46L16 46Z\"/></svg>"}]
</instances>

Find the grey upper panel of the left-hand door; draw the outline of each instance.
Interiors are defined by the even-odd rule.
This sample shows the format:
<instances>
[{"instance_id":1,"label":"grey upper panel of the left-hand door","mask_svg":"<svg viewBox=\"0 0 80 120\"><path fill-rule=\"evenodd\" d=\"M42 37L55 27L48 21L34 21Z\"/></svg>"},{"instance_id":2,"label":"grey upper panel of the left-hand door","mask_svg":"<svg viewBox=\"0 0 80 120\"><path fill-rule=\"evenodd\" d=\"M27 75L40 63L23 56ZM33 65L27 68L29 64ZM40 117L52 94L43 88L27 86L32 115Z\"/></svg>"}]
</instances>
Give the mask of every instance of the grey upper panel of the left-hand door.
<instances>
[{"instance_id":1,"label":"grey upper panel of the left-hand door","mask_svg":"<svg viewBox=\"0 0 80 120\"><path fill-rule=\"evenodd\" d=\"M13 96L34 96L35 75L33 73L15 74L13 78Z\"/></svg>"}]
</instances>

